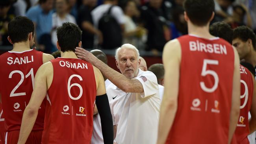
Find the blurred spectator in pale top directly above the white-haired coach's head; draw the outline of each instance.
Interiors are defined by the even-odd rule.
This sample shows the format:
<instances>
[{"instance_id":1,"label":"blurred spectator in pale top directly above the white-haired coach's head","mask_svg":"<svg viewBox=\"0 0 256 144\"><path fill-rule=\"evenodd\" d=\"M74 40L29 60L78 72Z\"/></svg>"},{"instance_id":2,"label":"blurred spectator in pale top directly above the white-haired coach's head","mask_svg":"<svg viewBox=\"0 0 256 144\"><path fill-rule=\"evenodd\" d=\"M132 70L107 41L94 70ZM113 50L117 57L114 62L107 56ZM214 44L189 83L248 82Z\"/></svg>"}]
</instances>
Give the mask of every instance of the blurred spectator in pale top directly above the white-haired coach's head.
<instances>
[{"instance_id":1,"label":"blurred spectator in pale top directly above the white-haired coach's head","mask_svg":"<svg viewBox=\"0 0 256 144\"><path fill-rule=\"evenodd\" d=\"M133 17L139 17L139 10L137 9L134 0L128 0L124 6L124 39L123 43L129 43L139 48L143 46L143 36L145 36L146 31L143 27L137 26L135 24ZM142 42L142 43L141 43Z\"/></svg>"}]
</instances>

